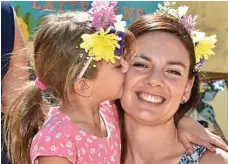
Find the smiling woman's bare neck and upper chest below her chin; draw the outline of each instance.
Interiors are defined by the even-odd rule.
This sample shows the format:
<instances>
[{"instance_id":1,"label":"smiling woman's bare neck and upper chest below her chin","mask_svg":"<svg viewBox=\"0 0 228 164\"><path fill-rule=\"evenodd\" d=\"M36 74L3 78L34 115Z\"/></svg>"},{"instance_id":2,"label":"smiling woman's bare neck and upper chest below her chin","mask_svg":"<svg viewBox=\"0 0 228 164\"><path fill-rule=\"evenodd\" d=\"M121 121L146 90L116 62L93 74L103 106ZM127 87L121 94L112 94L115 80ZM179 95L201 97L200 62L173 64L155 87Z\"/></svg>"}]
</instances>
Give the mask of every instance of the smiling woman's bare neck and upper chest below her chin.
<instances>
[{"instance_id":1,"label":"smiling woman's bare neck and upper chest below her chin","mask_svg":"<svg viewBox=\"0 0 228 164\"><path fill-rule=\"evenodd\" d=\"M173 119L153 126L144 125L125 115L125 125L128 140L127 164L165 163L167 159L169 162L175 161L185 152L178 140Z\"/></svg>"}]
</instances>

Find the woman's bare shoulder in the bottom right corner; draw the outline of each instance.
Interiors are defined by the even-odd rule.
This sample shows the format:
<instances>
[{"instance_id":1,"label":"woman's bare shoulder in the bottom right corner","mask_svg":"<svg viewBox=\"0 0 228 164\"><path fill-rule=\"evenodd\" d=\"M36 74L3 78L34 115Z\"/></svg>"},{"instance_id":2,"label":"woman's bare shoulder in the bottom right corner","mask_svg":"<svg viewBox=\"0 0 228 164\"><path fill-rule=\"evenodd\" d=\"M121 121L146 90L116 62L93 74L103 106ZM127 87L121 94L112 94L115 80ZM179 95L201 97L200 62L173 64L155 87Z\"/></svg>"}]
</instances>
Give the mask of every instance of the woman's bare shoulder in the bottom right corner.
<instances>
[{"instance_id":1,"label":"woman's bare shoulder in the bottom right corner","mask_svg":"<svg viewBox=\"0 0 228 164\"><path fill-rule=\"evenodd\" d=\"M207 151L199 164L228 164L228 152L216 148L215 152Z\"/></svg>"}]
</instances>

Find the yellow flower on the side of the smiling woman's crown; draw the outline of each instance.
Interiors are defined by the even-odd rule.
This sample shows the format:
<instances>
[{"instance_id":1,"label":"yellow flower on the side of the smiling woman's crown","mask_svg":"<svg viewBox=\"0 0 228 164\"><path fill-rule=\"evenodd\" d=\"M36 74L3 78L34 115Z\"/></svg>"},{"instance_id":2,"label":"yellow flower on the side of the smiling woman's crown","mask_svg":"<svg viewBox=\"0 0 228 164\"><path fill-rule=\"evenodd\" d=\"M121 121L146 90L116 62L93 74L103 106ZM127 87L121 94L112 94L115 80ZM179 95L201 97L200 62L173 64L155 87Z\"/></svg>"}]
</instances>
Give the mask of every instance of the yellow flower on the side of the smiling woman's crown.
<instances>
[{"instance_id":1,"label":"yellow flower on the side of the smiling woman's crown","mask_svg":"<svg viewBox=\"0 0 228 164\"><path fill-rule=\"evenodd\" d=\"M199 63L201 57L208 59L208 57L215 54L214 51L212 51L212 49L215 47L216 41L216 35L212 35L209 37L205 37L203 40L200 40L196 44L196 63Z\"/></svg>"}]
</instances>

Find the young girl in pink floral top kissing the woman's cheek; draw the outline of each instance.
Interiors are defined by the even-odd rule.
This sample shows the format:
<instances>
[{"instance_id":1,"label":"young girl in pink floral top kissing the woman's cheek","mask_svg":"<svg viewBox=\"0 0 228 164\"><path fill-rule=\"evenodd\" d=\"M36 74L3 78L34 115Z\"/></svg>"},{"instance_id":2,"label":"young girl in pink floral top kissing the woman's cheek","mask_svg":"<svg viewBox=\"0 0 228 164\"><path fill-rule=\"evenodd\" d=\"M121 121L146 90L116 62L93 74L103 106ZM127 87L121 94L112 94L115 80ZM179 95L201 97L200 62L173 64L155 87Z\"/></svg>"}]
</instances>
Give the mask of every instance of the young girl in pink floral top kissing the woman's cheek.
<instances>
[{"instance_id":1,"label":"young girl in pink floral top kissing the woman's cheek","mask_svg":"<svg viewBox=\"0 0 228 164\"><path fill-rule=\"evenodd\" d=\"M39 26L34 40L38 78L12 104L8 120L13 164L120 163L118 115L106 100L122 94L128 65L120 55L123 39L126 50L131 49L126 47L131 35L125 33L123 38L124 22L114 15L116 3L92 6L90 14L46 16ZM101 21L103 15L110 18ZM51 108L47 119L45 90L61 102Z\"/></svg>"}]
</instances>

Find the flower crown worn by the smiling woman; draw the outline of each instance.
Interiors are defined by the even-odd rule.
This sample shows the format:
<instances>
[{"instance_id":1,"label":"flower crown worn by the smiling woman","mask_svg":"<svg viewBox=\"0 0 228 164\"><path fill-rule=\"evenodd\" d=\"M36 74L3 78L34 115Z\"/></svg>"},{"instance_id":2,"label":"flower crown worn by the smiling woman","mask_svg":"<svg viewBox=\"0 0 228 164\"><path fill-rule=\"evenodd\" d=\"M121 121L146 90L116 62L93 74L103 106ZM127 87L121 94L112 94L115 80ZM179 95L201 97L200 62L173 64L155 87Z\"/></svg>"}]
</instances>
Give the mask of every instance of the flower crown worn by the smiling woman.
<instances>
[{"instance_id":1,"label":"flower crown worn by the smiling woman","mask_svg":"<svg viewBox=\"0 0 228 164\"><path fill-rule=\"evenodd\" d=\"M163 5L158 4L159 9L155 14L177 19L187 29L195 48L196 64L194 72L198 72L202 68L204 60L208 59L211 55L214 55L212 49L215 47L214 44L217 41L216 35L206 36L204 32L196 30L195 25L198 16L186 15L188 11L187 6L180 6L177 9L174 9L175 4L175 2L163 2Z\"/></svg>"}]
</instances>

